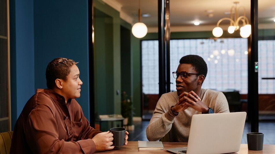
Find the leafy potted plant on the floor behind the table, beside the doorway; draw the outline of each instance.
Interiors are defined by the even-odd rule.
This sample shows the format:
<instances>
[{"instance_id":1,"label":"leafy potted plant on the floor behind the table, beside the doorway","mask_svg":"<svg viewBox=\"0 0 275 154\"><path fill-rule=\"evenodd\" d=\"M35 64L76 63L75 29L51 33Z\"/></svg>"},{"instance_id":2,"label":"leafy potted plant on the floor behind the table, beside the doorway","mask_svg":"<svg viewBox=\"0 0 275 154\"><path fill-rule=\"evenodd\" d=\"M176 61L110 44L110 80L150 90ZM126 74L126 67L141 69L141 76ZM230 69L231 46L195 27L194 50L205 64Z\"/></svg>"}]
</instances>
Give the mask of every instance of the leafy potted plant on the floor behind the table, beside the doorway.
<instances>
[{"instance_id":1,"label":"leafy potted plant on the floor behind the table, beside the doorway","mask_svg":"<svg viewBox=\"0 0 275 154\"><path fill-rule=\"evenodd\" d=\"M121 97L121 115L124 118L123 125L128 125L128 119L131 118L131 115L133 114L132 104L131 99L129 99L126 92L123 91Z\"/></svg>"}]
</instances>

